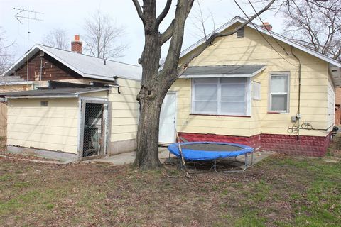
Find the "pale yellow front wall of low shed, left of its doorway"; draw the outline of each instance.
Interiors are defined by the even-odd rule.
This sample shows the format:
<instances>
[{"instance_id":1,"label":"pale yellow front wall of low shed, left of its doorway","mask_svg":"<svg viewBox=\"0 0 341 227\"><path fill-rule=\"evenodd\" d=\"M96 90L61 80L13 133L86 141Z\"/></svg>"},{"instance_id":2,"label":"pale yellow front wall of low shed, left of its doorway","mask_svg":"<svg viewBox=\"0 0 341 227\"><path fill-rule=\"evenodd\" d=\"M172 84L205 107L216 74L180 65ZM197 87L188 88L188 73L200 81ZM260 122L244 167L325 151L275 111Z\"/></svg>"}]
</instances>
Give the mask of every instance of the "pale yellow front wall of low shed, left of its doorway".
<instances>
[{"instance_id":1,"label":"pale yellow front wall of low shed, left of its doorway","mask_svg":"<svg viewBox=\"0 0 341 227\"><path fill-rule=\"evenodd\" d=\"M9 99L7 145L77 153L78 116L78 99Z\"/></svg>"}]
</instances>

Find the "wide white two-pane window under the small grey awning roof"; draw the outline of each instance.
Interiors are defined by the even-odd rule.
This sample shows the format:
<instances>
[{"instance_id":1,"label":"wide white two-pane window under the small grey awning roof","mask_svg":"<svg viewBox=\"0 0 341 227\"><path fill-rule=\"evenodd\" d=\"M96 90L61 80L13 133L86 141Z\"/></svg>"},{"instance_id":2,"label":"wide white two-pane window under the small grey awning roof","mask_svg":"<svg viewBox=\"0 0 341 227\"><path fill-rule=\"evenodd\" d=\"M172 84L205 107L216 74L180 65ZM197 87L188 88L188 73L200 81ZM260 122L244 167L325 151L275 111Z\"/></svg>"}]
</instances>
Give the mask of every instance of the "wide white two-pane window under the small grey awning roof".
<instances>
[{"instance_id":1,"label":"wide white two-pane window under the small grey awning roof","mask_svg":"<svg viewBox=\"0 0 341 227\"><path fill-rule=\"evenodd\" d=\"M247 77L193 79L192 114L246 116L249 112Z\"/></svg>"}]
</instances>

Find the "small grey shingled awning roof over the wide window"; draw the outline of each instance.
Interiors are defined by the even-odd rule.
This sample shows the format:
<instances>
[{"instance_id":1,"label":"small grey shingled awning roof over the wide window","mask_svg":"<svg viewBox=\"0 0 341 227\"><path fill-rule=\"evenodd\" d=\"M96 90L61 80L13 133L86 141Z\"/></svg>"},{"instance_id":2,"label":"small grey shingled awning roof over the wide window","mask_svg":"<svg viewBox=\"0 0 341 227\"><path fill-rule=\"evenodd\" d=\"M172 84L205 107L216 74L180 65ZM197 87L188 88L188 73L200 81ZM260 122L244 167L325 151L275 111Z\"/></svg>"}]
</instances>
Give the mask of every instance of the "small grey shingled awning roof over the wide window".
<instances>
[{"instance_id":1,"label":"small grey shingled awning roof over the wide window","mask_svg":"<svg viewBox=\"0 0 341 227\"><path fill-rule=\"evenodd\" d=\"M253 77L264 70L266 65L210 65L193 66L182 77Z\"/></svg>"}]
</instances>

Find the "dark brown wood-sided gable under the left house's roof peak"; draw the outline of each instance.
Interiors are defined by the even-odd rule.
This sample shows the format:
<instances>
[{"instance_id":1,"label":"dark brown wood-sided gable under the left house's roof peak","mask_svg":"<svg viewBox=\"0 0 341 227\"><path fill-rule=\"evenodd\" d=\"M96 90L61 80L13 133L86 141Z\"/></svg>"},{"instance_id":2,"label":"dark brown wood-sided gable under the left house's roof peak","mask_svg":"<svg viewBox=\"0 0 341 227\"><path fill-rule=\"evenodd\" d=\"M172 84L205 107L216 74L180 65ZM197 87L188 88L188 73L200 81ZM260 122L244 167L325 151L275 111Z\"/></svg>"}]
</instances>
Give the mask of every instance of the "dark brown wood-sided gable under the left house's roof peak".
<instances>
[{"instance_id":1,"label":"dark brown wood-sided gable under the left house's roof peak","mask_svg":"<svg viewBox=\"0 0 341 227\"><path fill-rule=\"evenodd\" d=\"M68 67L62 63L55 60L50 55L46 54L41 57L43 59L43 70L42 70L42 80L60 80L60 79L80 79L82 78L80 74L70 70ZM40 57L39 52L31 57L28 61L28 80L38 81L40 77ZM20 76L22 79L27 79L27 68L26 63L19 67L13 75Z\"/></svg>"}]
</instances>

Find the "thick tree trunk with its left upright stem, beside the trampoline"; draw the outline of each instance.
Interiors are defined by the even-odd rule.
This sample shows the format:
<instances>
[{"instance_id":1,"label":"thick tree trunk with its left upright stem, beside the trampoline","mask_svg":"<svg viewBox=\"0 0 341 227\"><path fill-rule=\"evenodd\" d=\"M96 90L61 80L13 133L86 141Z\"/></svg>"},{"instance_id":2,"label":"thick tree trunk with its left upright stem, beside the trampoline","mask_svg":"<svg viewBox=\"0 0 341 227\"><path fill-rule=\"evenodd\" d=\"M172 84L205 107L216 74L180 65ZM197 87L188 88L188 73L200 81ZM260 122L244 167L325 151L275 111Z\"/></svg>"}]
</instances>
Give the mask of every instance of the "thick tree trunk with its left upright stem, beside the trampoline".
<instances>
[{"instance_id":1,"label":"thick tree trunk with its left upright stem, beside the trampoline","mask_svg":"<svg viewBox=\"0 0 341 227\"><path fill-rule=\"evenodd\" d=\"M161 36L155 21L156 6L153 1L144 2L144 51L139 60L142 65L141 89L137 100L140 104L137 150L134 165L140 170L160 167L158 160L158 125L163 98L158 94L158 68L161 57Z\"/></svg>"}]
</instances>

